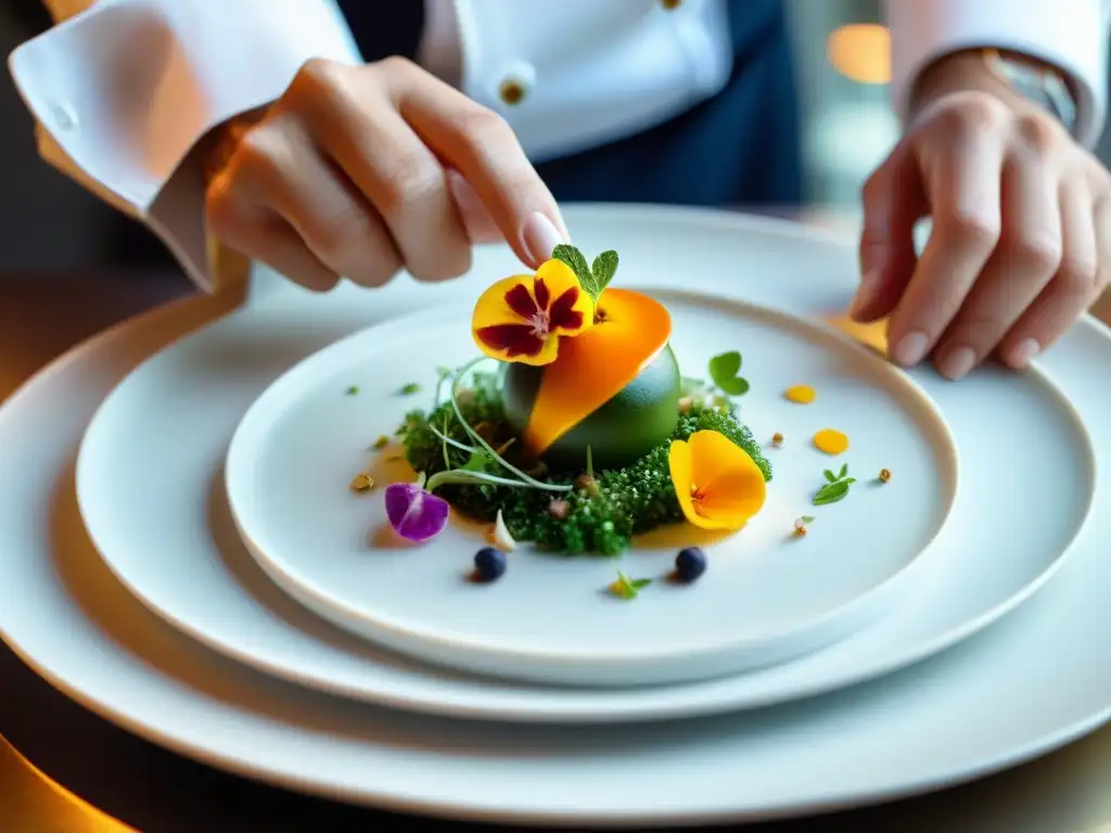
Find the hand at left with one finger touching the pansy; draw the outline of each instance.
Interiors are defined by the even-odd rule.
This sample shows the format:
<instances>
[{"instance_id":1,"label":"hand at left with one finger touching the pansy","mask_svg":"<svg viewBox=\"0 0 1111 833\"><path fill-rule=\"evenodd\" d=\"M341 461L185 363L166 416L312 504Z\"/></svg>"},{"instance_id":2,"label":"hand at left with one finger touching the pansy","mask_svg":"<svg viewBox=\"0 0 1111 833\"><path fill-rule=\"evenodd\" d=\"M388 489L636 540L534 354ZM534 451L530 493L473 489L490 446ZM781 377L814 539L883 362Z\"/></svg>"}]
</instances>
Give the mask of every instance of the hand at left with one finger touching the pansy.
<instances>
[{"instance_id":1,"label":"hand at left with one finger touching the pansy","mask_svg":"<svg viewBox=\"0 0 1111 833\"><path fill-rule=\"evenodd\" d=\"M309 61L224 158L214 234L316 291L457 278L502 239L534 269L568 237L506 121L401 58Z\"/></svg>"}]
</instances>

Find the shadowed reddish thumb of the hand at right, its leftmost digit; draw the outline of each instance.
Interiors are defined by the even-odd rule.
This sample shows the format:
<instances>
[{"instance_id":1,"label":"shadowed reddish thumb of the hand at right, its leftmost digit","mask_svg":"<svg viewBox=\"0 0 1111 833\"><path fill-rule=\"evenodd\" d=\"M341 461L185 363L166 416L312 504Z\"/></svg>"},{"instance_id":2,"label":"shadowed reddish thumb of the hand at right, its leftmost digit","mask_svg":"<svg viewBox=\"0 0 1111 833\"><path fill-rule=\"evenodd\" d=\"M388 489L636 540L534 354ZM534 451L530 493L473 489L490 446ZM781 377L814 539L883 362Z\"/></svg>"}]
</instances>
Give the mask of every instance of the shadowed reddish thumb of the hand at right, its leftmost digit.
<instances>
[{"instance_id":1,"label":"shadowed reddish thumb of the hand at right, its leftmost digit","mask_svg":"<svg viewBox=\"0 0 1111 833\"><path fill-rule=\"evenodd\" d=\"M914 223L927 201L911 154L892 154L864 183L860 234L860 287L850 315L868 322L899 303L914 272Z\"/></svg>"}]
</instances>

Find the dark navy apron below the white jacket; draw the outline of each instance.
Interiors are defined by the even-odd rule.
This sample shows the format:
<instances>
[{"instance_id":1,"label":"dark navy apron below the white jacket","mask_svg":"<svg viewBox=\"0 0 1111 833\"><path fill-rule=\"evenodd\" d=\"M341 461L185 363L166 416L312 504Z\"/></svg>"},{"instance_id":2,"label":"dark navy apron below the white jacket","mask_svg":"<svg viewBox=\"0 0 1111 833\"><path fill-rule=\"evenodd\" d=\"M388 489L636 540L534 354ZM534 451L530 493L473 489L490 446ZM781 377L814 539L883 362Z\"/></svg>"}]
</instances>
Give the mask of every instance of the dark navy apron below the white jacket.
<instances>
[{"instance_id":1,"label":"dark navy apron below the white jacket","mask_svg":"<svg viewBox=\"0 0 1111 833\"><path fill-rule=\"evenodd\" d=\"M340 0L368 61L413 58L424 3ZM538 165L560 201L792 207L798 101L781 0L728 0L733 72L713 99L650 130Z\"/></svg>"}]
</instances>

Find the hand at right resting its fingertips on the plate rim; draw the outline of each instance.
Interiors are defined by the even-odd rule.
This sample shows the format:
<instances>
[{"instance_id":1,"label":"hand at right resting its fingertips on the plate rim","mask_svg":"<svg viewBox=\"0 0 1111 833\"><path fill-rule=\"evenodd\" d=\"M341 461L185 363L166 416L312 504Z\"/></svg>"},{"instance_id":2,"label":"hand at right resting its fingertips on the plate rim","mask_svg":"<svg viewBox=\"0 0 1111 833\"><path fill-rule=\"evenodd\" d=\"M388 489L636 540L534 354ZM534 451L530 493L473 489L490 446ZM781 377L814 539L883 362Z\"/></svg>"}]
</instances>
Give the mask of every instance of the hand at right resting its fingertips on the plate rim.
<instances>
[{"instance_id":1,"label":"hand at right resting its fingertips on the plate rim","mask_svg":"<svg viewBox=\"0 0 1111 833\"><path fill-rule=\"evenodd\" d=\"M1111 175L979 54L923 78L905 136L863 190L852 315L890 315L891 359L959 379L1022 368L1111 279ZM912 228L932 219L915 258Z\"/></svg>"}]
</instances>

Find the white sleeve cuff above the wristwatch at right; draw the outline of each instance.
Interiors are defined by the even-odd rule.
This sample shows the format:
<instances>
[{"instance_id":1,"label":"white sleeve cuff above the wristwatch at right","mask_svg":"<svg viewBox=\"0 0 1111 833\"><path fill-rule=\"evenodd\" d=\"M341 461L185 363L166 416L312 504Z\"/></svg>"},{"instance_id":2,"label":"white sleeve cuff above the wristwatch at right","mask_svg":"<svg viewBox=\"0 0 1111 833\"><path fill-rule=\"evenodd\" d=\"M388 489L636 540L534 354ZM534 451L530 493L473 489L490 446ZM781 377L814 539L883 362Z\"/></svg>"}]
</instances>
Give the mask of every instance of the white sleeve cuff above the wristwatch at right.
<instances>
[{"instance_id":1,"label":"white sleeve cuff above the wristwatch at right","mask_svg":"<svg viewBox=\"0 0 1111 833\"><path fill-rule=\"evenodd\" d=\"M995 47L1068 73L1078 94L1077 138L1091 147L1108 98L1109 0L883 0L891 30L891 88L900 118L919 73L961 49Z\"/></svg>"}]
</instances>

